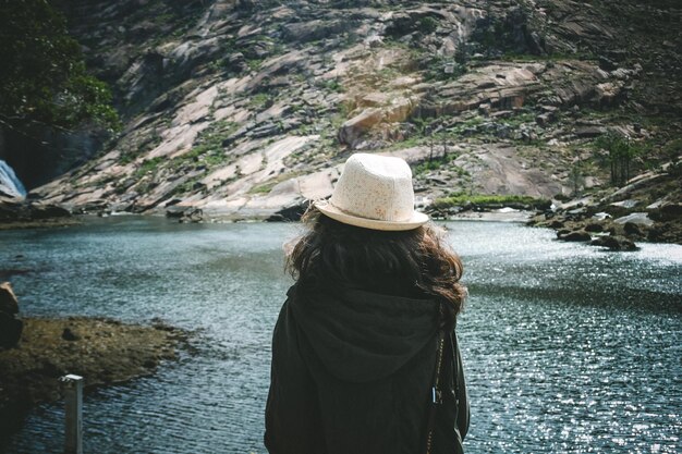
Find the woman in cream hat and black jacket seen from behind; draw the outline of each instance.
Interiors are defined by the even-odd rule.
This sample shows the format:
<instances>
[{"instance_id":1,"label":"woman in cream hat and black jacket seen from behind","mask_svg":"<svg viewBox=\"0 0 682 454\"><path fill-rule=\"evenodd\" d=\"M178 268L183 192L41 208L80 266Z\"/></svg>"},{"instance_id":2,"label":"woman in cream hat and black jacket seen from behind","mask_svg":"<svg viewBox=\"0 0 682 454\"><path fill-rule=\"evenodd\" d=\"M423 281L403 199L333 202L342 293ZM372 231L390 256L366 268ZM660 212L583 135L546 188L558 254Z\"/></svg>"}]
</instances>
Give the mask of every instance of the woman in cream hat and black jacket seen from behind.
<instances>
[{"instance_id":1,"label":"woman in cream hat and black jacket seen from behind","mask_svg":"<svg viewBox=\"0 0 682 454\"><path fill-rule=\"evenodd\" d=\"M272 338L268 451L463 452L462 263L414 211L410 167L351 156L304 220Z\"/></svg>"}]
</instances>

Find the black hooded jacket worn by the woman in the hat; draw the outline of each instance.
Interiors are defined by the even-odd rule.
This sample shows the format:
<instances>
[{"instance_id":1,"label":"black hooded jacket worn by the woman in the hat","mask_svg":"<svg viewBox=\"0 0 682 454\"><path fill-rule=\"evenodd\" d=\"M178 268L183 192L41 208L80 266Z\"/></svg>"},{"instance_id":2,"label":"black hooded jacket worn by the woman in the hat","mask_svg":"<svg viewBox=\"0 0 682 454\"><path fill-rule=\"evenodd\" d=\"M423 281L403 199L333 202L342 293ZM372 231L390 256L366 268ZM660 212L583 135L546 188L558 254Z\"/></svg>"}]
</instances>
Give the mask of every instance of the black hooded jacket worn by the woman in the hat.
<instances>
[{"instance_id":1,"label":"black hooded jacket worn by the woman in the hat","mask_svg":"<svg viewBox=\"0 0 682 454\"><path fill-rule=\"evenodd\" d=\"M268 451L424 453L438 304L358 290L302 293L290 289L275 327ZM446 338L434 454L462 452L468 401L461 371L452 332Z\"/></svg>"}]
</instances>

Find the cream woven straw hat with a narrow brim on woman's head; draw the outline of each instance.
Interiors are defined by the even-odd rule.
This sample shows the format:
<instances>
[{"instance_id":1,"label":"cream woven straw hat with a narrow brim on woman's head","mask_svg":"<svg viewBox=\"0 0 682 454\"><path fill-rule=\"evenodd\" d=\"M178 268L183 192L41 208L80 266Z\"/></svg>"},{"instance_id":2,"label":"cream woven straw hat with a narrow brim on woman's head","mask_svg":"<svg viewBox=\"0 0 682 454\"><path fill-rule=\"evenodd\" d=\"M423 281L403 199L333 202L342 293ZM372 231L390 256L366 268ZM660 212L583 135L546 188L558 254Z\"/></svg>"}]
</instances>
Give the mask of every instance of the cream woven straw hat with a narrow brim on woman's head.
<instances>
[{"instance_id":1,"label":"cream woven straw hat with a narrow brim on woman's head","mask_svg":"<svg viewBox=\"0 0 682 454\"><path fill-rule=\"evenodd\" d=\"M387 156L352 155L331 198L315 207L344 224L373 230L412 230L428 221L414 210L410 165Z\"/></svg>"}]
</instances>

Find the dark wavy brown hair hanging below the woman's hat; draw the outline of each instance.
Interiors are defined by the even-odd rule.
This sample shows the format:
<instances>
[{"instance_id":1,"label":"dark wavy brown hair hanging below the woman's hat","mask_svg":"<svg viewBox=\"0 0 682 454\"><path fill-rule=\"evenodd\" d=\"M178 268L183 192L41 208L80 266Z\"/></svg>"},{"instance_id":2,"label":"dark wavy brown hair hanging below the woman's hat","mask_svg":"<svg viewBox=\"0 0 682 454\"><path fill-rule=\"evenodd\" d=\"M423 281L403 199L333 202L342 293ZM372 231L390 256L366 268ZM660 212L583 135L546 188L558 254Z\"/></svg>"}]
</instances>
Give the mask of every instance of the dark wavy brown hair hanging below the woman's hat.
<instances>
[{"instance_id":1,"label":"dark wavy brown hair hanging below the woman's hat","mask_svg":"<svg viewBox=\"0 0 682 454\"><path fill-rule=\"evenodd\" d=\"M287 269L305 290L363 289L446 303L446 322L463 308L463 267L430 223L409 231L378 231L336 221L310 206L307 232L287 257Z\"/></svg>"}]
</instances>

